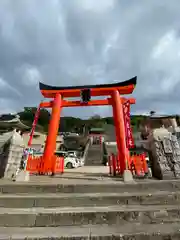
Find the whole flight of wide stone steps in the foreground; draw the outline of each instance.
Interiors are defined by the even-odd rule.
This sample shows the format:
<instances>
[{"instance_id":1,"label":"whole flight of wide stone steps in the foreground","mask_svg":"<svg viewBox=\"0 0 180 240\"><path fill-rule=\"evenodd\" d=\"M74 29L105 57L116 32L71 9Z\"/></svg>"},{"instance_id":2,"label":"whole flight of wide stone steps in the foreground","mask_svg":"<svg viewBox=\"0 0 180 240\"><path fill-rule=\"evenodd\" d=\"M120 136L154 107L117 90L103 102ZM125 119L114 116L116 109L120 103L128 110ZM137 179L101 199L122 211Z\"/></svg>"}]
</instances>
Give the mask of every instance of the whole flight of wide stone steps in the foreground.
<instances>
[{"instance_id":1,"label":"whole flight of wide stone steps in the foreground","mask_svg":"<svg viewBox=\"0 0 180 240\"><path fill-rule=\"evenodd\" d=\"M175 180L1 182L0 239L178 240L179 203Z\"/></svg>"}]
</instances>

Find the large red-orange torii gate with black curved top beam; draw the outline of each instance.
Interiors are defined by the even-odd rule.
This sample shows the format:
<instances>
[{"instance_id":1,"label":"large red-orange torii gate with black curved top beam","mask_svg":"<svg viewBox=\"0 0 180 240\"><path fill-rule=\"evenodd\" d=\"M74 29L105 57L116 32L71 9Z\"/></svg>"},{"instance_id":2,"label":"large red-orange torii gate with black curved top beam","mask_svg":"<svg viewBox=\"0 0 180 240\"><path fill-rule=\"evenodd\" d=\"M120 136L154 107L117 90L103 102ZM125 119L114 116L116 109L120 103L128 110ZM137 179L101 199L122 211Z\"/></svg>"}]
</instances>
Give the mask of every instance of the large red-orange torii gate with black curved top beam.
<instances>
[{"instance_id":1,"label":"large red-orange torii gate with black curved top beam","mask_svg":"<svg viewBox=\"0 0 180 240\"><path fill-rule=\"evenodd\" d=\"M87 106L105 106L111 105L113 108L113 117L116 132L116 141L121 173L127 169L127 143L126 143L126 130L124 125L123 104L129 101L130 104L135 104L134 98L123 98L121 95L132 94L137 77L124 82L115 84L100 84L100 85L85 85L85 86L69 86L69 87L56 87L39 83L39 88L45 98L53 98L52 101L42 102L40 108L52 108L50 123L48 127L48 135L46 139L44 155L43 155L43 171L49 169L53 165L54 152L56 150L56 137L60 124L60 115L63 107L87 107ZM89 100L82 101L68 101L65 98L80 97L82 91L89 90L90 96L109 96L103 100ZM37 116L38 118L38 116ZM35 124L34 124L35 125ZM33 129L29 145L32 141ZM53 166L52 166L53 169Z\"/></svg>"}]
</instances>

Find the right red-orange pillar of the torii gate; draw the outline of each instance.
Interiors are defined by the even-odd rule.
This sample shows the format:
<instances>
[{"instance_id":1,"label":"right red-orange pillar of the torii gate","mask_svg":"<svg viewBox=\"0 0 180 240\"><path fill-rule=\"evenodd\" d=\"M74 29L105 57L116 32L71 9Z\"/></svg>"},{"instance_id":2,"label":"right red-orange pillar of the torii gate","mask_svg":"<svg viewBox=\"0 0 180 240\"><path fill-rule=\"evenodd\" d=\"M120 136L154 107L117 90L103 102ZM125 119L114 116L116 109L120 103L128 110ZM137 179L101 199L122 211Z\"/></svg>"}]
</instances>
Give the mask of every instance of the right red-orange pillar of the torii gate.
<instances>
[{"instance_id":1,"label":"right red-orange pillar of the torii gate","mask_svg":"<svg viewBox=\"0 0 180 240\"><path fill-rule=\"evenodd\" d=\"M112 92L111 97L118 149L118 160L120 161L120 171L123 174L124 170L126 169L126 133L124 126L123 107L120 94L117 90Z\"/></svg>"}]
</instances>

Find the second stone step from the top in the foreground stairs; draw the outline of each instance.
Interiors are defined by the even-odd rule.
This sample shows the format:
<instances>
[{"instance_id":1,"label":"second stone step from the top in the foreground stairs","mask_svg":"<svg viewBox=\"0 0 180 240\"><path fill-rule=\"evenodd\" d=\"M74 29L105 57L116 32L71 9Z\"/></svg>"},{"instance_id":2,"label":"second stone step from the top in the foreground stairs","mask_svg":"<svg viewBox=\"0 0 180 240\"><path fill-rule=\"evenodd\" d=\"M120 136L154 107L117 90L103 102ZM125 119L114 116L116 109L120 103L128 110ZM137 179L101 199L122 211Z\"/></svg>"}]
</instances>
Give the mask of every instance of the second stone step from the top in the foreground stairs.
<instances>
[{"instance_id":1,"label":"second stone step from the top in the foreground stairs","mask_svg":"<svg viewBox=\"0 0 180 240\"><path fill-rule=\"evenodd\" d=\"M180 192L142 193L67 193L67 194L21 194L0 195L0 207L87 207L108 205L178 205Z\"/></svg>"}]
</instances>

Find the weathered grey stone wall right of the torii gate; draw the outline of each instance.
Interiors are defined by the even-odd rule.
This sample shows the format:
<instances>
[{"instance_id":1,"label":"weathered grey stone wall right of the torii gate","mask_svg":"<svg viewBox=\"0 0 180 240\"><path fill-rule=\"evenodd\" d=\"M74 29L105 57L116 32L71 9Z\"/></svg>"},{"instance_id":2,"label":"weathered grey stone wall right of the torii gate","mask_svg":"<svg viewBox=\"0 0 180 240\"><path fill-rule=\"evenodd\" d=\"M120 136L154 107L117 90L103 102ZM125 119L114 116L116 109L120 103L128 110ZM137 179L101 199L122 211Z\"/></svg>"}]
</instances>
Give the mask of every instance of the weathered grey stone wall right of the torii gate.
<instances>
[{"instance_id":1,"label":"weathered grey stone wall right of the torii gate","mask_svg":"<svg viewBox=\"0 0 180 240\"><path fill-rule=\"evenodd\" d=\"M152 174L158 179L180 176L180 146L165 128L154 129L148 137Z\"/></svg>"}]
</instances>

